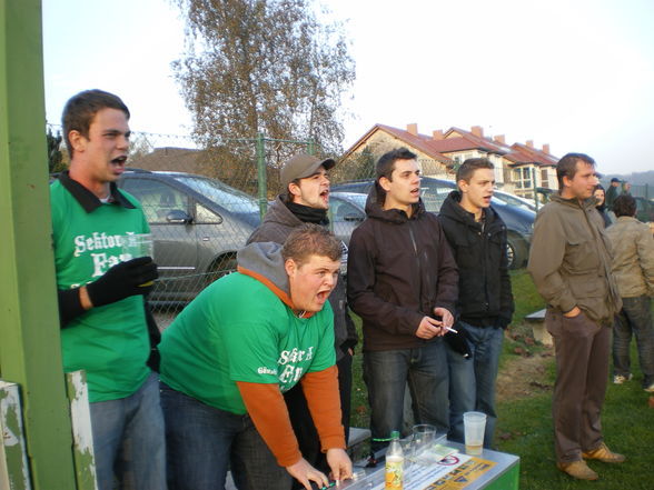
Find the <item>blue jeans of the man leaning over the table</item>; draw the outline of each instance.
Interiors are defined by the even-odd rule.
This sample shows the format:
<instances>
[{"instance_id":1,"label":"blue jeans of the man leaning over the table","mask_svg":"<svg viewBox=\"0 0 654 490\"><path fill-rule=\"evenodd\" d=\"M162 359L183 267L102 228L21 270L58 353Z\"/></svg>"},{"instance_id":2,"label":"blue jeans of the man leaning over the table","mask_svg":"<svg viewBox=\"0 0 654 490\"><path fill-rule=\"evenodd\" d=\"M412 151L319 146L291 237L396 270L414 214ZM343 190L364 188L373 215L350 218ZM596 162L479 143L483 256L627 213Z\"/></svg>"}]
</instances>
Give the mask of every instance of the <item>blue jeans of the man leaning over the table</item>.
<instances>
[{"instance_id":1,"label":"blue jeans of the man leaning over the table","mask_svg":"<svg viewBox=\"0 0 654 490\"><path fill-rule=\"evenodd\" d=\"M169 490L289 490L291 477L277 464L251 419L209 407L161 383Z\"/></svg>"}]
</instances>

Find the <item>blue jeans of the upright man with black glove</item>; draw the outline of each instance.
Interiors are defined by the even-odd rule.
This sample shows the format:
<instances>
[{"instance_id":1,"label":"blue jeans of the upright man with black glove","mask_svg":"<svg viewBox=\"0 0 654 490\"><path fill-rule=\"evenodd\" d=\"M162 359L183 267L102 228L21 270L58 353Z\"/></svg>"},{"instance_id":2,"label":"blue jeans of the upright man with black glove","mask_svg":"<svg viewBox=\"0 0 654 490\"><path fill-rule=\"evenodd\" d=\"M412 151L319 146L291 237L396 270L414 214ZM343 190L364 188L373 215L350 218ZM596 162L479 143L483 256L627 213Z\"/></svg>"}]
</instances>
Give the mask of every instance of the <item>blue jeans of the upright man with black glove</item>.
<instances>
[{"instance_id":1,"label":"blue jeans of the upright man with black glove","mask_svg":"<svg viewBox=\"0 0 654 490\"><path fill-rule=\"evenodd\" d=\"M99 490L166 489L166 440L159 381L151 373L133 394L89 403Z\"/></svg>"}]
</instances>

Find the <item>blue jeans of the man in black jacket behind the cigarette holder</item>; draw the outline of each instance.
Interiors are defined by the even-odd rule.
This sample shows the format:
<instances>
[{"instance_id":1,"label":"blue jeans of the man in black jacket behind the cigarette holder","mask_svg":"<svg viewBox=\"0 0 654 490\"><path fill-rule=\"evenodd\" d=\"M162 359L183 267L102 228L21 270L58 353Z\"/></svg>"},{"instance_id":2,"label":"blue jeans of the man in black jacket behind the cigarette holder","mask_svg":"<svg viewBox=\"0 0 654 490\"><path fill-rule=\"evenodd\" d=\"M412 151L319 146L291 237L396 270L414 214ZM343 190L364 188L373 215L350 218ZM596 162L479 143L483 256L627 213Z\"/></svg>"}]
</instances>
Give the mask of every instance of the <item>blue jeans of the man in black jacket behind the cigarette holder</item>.
<instances>
[{"instance_id":1,"label":"blue jeans of the man in black jacket behind the cigarette holder","mask_svg":"<svg viewBox=\"0 0 654 490\"><path fill-rule=\"evenodd\" d=\"M474 327L459 321L466 331L472 356L465 359L446 344L449 364L449 433L448 439L464 442L463 414L468 411L486 413L484 447L490 448L495 433L495 381L504 330L492 327ZM458 328L458 327L457 327Z\"/></svg>"}]
</instances>

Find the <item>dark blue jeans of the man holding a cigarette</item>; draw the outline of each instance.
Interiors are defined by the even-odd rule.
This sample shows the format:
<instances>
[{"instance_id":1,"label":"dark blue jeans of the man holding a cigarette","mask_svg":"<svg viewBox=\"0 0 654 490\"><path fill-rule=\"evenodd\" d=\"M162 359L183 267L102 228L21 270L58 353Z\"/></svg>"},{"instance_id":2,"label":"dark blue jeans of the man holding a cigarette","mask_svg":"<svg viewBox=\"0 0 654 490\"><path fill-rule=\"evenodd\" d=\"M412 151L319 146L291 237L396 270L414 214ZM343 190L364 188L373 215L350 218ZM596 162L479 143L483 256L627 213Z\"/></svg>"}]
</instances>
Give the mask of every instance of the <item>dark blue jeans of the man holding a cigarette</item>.
<instances>
[{"instance_id":1,"label":"dark blue jeans of the man holding a cigarette","mask_svg":"<svg viewBox=\"0 0 654 490\"><path fill-rule=\"evenodd\" d=\"M364 381L370 403L373 451L387 446L375 439L387 439L392 431L402 430L407 382L416 423L430 423L447 432L447 358L442 339L416 349L364 352Z\"/></svg>"}]
</instances>

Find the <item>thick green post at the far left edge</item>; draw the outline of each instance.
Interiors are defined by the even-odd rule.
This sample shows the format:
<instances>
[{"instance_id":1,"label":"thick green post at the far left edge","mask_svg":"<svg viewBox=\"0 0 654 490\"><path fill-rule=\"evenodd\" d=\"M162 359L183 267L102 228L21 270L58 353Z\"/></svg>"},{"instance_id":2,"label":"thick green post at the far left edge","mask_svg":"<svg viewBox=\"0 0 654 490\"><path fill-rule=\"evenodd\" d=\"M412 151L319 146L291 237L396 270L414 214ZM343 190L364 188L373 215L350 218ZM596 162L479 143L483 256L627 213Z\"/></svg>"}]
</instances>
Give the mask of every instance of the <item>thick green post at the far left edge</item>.
<instances>
[{"instance_id":1,"label":"thick green post at the far left edge","mask_svg":"<svg viewBox=\"0 0 654 490\"><path fill-rule=\"evenodd\" d=\"M75 489L51 246L40 0L0 0L0 373L20 386L31 482Z\"/></svg>"}]
</instances>

